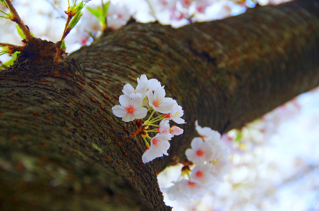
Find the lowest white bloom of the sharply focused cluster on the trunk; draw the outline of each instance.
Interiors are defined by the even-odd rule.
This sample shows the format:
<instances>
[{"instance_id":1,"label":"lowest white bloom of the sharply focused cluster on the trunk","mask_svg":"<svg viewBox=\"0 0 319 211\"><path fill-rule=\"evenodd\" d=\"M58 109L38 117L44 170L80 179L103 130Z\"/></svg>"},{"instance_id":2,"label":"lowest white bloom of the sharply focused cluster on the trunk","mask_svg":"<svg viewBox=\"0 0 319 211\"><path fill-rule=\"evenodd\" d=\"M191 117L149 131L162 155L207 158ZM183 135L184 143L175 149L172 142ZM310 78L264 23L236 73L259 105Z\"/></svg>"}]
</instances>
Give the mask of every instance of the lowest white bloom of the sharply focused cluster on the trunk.
<instances>
[{"instance_id":1,"label":"lowest white bloom of the sharply focused cluster on the trunk","mask_svg":"<svg viewBox=\"0 0 319 211\"><path fill-rule=\"evenodd\" d=\"M147 149L142 156L143 163L146 164L156 157L162 157L163 154L168 155L167 150L170 147L168 140L171 140L171 138L167 135L156 134L151 140L150 149Z\"/></svg>"}]
</instances>

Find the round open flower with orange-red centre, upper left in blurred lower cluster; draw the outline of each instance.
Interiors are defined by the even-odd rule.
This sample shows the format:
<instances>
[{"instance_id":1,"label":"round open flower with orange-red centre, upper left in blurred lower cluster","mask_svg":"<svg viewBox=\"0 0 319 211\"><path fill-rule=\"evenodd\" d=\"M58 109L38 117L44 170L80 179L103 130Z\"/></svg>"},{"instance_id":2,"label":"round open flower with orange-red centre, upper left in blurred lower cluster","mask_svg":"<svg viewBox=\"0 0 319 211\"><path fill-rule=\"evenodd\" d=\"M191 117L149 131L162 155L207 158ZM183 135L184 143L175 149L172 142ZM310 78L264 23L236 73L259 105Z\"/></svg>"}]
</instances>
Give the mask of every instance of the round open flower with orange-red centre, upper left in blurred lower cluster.
<instances>
[{"instance_id":1,"label":"round open flower with orange-red centre, upper left in blurred lower cluster","mask_svg":"<svg viewBox=\"0 0 319 211\"><path fill-rule=\"evenodd\" d=\"M214 156L214 150L210 143L204 142L202 138L193 138L190 143L192 149L186 149L185 155L189 161L194 164L204 164L204 161L211 161Z\"/></svg>"}]
</instances>

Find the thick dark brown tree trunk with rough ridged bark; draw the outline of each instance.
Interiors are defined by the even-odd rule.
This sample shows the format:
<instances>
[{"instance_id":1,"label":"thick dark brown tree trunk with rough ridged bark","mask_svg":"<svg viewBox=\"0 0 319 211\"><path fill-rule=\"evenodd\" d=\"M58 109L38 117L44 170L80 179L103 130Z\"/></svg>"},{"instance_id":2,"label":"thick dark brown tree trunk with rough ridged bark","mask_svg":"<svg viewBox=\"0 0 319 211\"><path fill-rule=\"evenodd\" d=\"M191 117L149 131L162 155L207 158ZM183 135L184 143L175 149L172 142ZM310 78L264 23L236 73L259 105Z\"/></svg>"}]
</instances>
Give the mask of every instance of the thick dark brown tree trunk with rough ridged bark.
<instances>
[{"instance_id":1,"label":"thick dark brown tree trunk with rough ridged bark","mask_svg":"<svg viewBox=\"0 0 319 211\"><path fill-rule=\"evenodd\" d=\"M131 23L59 65L28 47L0 72L0 210L170 210L156 175L185 158L196 119L226 132L319 84L318 14L303 0L179 29ZM149 164L111 112L140 74L189 123Z\"/></svg>"}]
</instances>

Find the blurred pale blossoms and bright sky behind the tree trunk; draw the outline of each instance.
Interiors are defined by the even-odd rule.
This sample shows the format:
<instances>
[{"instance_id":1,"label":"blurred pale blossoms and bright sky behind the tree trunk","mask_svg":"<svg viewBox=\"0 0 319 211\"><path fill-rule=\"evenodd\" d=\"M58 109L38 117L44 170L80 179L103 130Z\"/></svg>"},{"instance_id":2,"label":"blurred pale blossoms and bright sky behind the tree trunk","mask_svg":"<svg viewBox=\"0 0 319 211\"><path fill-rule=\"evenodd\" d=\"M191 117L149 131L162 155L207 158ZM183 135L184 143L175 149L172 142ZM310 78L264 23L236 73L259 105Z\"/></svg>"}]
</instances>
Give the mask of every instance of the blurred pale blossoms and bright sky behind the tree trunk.
<instances>
[{"instance_id":1,"label":"blurred pale blossoms and bright sky behind the tree trunk","mask_svg":"<svg viewBox=\"0 0 319 211\"><path fill-rule=\"evenodd\" d=\"M111 0L107 21L110 30L122 27L131 17L137 22L157 20L164 25L181 27L195 21L238 15L256 4L283 2L285 0ZM61 39L67 0L12 0L12 3L34 36L52 42ZM100 0L92 0L86 6L96 8L100 4ZM0 10L7 11L3 5ZM98 19L85 8L82 11L80 22L65 39L68 53L89 45L101 35ZM0 29L0 42L23 45L14 22L0 18ZM9 55L0 56L3 64L10 59ZM316 88L241 130L222 135L230 148L231 170L214 192L200 202L170 201L163 193L164 201L173 211L318 211L318 132L319 89ZM176 165L161 172L159 186L172 186L180 177L181 168L182 165Z\"/></svg>"}]
</instances>

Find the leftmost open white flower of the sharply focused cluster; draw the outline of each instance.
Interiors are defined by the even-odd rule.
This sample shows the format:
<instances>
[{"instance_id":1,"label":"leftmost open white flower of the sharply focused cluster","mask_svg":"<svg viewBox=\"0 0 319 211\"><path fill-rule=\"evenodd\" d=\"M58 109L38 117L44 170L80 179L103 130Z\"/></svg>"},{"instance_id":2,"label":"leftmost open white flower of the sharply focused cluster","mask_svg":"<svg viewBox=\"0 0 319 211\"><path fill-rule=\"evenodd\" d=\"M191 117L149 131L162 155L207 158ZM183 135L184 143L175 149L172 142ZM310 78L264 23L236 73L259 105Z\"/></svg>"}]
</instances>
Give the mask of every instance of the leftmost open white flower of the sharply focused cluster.
<instances>
[{"instance_id":1,"label":"leftmost open white flower of the sharply focused cluster","mask_svg":"<svg viewBox=\"0 0 319 211\"><path fill-rule=\"evenodd\" d=\"M115 116L122 117L124 122L143 119L147 114L147 108L142 107L143 100L140 97L132 99L124 94L119 97L119 102L121 105L115 105L112 111Z\"/></svg>"}]
</instances>

